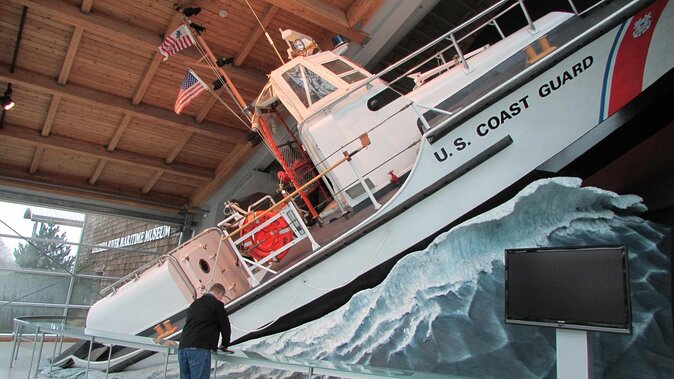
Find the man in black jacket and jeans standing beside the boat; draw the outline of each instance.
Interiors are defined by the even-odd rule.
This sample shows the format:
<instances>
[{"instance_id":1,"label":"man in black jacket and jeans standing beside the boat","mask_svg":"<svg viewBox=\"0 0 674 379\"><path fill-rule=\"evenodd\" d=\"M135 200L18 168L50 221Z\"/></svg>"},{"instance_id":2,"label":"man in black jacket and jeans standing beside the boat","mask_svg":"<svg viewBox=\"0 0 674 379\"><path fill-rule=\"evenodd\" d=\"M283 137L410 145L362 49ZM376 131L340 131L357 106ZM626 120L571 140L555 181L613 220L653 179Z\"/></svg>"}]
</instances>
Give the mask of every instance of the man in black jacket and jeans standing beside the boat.
<instances>
[{"instance_id":1,"label":"man in black jacket and jeans standing beside the boat","mask_svg":"<svg viewBox=\"0 0 674 379\"><path fill-rule=\"evenodd\" d=\"M229 346L232 329L225 311L225 287L216 283L187 309L187 320L178 346L180 379L208 379L211 351Z\"/></svg>"}]
</instances>

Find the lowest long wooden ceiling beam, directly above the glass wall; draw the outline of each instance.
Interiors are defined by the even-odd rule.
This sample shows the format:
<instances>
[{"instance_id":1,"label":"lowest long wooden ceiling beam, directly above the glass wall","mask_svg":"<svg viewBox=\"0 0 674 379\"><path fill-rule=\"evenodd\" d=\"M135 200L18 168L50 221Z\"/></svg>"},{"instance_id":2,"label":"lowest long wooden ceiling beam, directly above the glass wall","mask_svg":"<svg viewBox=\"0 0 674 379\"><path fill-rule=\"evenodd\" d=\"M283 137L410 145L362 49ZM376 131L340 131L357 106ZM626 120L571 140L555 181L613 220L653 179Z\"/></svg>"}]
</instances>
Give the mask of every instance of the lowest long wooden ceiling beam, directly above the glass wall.
<instances>
[{"instance_id":1,"label":"lowest long wooden ceiling beam, directly above the glass wall","mask_svg":"<svg viewBox=\"0 0 674 379\"><path fill-rule=\"evenodd\" d=\"M38 173L31 176L26 170L11 167L0 162L0 185L12 188L25 188L30 191L43 191L58 195L87 198L104 203L115 203L134 208L153 209L171 214L180 214L185 205L185 197L167 193L153 192L143 195L139 189L126 186L98 184L95 187L80 178L68 175L49 175Z\"/></svg>"}]
</instances>

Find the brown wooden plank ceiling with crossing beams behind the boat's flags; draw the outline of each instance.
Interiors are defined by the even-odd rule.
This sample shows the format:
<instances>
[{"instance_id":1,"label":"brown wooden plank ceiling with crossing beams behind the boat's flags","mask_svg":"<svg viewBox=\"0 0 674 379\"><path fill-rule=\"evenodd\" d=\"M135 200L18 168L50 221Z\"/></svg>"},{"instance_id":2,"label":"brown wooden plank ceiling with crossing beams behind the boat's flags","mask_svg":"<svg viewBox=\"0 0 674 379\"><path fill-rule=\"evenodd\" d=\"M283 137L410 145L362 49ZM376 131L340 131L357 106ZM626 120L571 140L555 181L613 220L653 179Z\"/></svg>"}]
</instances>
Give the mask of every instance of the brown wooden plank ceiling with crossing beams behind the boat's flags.
<instances>
[{"instance_id":1,"label":"brown wooden plank ceiling with crossing beams behind the boat's flags","mask_svg":"<svg viewBox=\"0 0 674 379\"><path fill-rule=\"evenodd\" d=\"M324 40L334 30L320 17L336 15L339 29L379 1L249 0L255 14L245 0L179 3L203 8L192 21L207 28L202 37L216 56L237 58L223 69L250 103L265 74L281 64L256 15L267 16L265 28L287 59L279 28ZM201 206L248 159L248 125L227 109L239 111L226 91L218 92L220 99L204 93L182 115L173 113L187 67L207 84L217 77L196 63L195 47L161 60L157 47L178 23L173 5L173 0L0 4L0 85L12 83L17 102L0 128L2 184L180 212L185 205ZM28 12L12 67L24 6ZM307 22L306 14L320 17Z\"/></svg>"}]
</instances>

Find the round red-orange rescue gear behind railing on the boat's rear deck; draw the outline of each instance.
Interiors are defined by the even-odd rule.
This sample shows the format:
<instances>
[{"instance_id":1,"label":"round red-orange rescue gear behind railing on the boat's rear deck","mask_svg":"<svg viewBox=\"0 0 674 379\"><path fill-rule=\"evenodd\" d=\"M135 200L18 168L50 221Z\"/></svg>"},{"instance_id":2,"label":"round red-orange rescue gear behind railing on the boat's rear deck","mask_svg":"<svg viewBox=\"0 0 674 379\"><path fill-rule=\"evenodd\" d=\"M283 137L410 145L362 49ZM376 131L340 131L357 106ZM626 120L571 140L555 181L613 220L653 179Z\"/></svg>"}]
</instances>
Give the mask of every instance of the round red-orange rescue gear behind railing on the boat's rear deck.
<instances>
[{"instance_id":1,"label":"round red-orange rescue gear behind railing on the boat's rear deck","mask_svg":"<svg viewBox=\"0 0 674 379\"><path fill-rule=\"evenodd\" d=\"M264 213L264 211L253 211L248 212L246 218L243 220L243 225L248 224L253 221L258 215ZM246 226L241 230L241 236L244 236L253 229L257 228L259 225L264 224L269 219L277 215L278 212L271 211L267 212L262 217L257 219L255 222ZM269 254L274 251L282 248L285 244L293 240L293 232L288 226L283 217L278 217L276 220L272 221L269 225L266 225L262 229L256 231L248 238L243 241L243 251L245 254L250 255L256 261L262 260ZM288 249L285 249L279 253L274 260L280 261L283 257L288 254Z\"/></svg>"}]
</instances>

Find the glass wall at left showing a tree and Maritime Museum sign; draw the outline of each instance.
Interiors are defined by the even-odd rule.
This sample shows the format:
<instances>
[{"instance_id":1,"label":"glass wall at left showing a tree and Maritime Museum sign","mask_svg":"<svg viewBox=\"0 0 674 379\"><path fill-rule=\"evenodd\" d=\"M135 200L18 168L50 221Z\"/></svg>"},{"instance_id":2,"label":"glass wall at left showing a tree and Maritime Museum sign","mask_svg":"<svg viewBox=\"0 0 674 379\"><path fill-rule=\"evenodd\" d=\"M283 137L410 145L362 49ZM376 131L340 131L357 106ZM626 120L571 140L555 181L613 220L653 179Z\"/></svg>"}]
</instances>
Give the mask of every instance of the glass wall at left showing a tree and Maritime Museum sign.
<instances>
[{"instance_id":1,"label":"glass wall at left showing a tree and Maritime Museum sign","mask_svg":"<svg viewBox=\"0 0 674 379\"><path fill-rule=\"evenodd\" d=\"M110 286L179 241L179 228L0 201L0 334L19 316L84 317Z\"/></svg>"}]
</instances>

